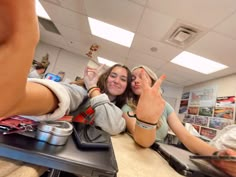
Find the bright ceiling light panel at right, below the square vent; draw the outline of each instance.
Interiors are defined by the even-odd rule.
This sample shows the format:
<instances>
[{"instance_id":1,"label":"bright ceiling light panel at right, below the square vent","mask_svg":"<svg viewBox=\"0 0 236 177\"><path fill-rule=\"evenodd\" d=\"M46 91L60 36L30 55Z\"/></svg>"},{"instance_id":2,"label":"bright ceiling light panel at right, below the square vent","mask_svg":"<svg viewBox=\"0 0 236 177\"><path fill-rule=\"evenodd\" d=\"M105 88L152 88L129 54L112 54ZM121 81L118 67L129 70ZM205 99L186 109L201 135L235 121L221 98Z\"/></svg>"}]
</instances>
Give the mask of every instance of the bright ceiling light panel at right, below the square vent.
<instances>
[{"instance_id":1,"label":"bright ceiling light panel at right, below the square vent","mask_svg":"<svg viewBox=\"0 0 236 177\"><path fill-rule=\"evenodd\" d=\"M203 74L211 74L228 68L228 66L186 51L177 55L171 62Z\"/></svg>"}]
</instances>

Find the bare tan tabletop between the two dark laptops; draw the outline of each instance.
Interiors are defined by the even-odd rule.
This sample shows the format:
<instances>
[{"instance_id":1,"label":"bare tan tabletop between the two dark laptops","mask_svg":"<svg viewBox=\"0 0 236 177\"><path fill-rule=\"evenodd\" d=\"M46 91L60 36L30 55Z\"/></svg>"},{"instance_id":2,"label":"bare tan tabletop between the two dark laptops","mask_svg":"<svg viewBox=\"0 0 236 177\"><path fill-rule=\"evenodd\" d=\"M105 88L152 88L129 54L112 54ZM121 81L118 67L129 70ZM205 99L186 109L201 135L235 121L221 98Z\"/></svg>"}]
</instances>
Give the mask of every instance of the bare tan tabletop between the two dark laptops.
<instances>
[{"instance_id":1,"label":"bare tan tabletop between the two dark laptops","mask_svg":"<svg viewBox=\"0 0 236 177\"><path fill-rule=\"evenodd\" d=\"M118 177L183 177L157 152L138 146L127 134L112 137Z\"/></svg>"}]
</instances>

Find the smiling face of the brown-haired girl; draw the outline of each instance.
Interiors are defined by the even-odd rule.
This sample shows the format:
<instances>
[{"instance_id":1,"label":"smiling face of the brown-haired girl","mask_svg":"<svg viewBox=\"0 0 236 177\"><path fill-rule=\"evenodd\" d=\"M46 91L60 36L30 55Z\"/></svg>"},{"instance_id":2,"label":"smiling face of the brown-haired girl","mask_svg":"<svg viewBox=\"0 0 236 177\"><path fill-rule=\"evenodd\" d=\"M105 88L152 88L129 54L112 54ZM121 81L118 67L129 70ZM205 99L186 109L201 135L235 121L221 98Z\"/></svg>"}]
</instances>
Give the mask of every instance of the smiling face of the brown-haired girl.
<instances>
[{"instance_id":1,"label":"smiling face of the brown-haired girl","mask_svg":"<svg viewBox=\"0 0 236 177\"><path fill-rule=\"evenodd\" d=\"M116 96L122 95L128 84L128 73L123 67L114 67L106 82L108 95L115 99Z\"/></svg>"}]
</instances>

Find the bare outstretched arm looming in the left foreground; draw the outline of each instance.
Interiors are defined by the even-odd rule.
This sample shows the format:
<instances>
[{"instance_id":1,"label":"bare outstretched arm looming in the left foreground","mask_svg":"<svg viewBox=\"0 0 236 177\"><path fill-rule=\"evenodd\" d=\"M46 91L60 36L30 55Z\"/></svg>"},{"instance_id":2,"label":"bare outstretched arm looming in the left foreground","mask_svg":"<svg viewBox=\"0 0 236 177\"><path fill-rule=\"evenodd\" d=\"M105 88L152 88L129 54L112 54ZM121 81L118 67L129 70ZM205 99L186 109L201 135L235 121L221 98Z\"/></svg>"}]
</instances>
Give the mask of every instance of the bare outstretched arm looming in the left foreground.
<instances>
[{"instance_id":1,"label":"bare outstretched arm looming in the left foreground","mask_svg":"<svg viewBox=\"0 0 236 177\"><path fill-rule=\"evenodd\" d=\"M39 40L35 1L0 2L0 117L53 111L57 99L42 85L27 82Z\"/></svg>"}]
</instances>

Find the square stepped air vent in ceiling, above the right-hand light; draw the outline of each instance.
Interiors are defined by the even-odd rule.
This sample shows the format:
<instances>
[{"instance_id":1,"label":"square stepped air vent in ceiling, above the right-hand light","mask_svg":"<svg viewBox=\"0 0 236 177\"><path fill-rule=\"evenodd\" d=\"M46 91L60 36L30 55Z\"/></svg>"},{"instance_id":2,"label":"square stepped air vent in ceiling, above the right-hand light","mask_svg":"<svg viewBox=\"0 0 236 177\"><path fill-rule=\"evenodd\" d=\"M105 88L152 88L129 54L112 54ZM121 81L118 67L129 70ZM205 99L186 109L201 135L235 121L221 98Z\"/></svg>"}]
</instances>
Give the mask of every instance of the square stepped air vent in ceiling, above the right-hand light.
<instances>
[{"instance_id":1,"label":"square stepped air vent in ceiling, above the right-hand light","mask_svg":"<svg viewBox=\"0 0 236 177\"><path fill-rule=\"evenodd\" d=\"M197 27L177 22L166 34L163 41L179 48L186 48L204 33Z\"/></svg>"}]
</instances>

